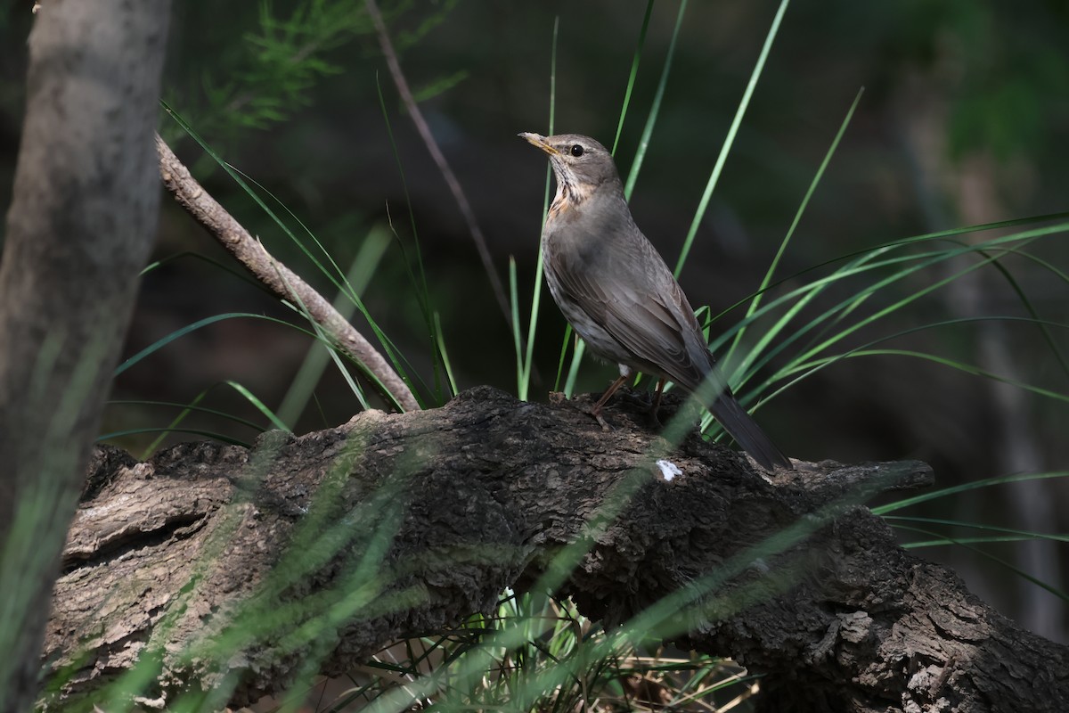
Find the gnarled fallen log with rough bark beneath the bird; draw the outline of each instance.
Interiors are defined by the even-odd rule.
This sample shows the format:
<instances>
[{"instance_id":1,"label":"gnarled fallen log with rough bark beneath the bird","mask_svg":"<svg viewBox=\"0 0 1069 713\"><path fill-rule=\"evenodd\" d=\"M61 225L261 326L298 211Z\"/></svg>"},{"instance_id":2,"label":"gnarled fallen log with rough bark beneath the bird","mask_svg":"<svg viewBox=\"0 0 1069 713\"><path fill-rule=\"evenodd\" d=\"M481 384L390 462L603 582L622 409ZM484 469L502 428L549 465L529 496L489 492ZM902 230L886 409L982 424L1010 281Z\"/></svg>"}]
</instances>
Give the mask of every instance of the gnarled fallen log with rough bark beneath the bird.
<instances>
[{"instance_id":1,"label":"gnarled fallen log with rough bark beneath the bird","mask_svg":"<svg viewBox=\"0 0 1069 713\"><path fill-rule=\"evenodd\" d=\"M669 636L766 673L766 710L1069 710L1065 647L898 548L857 505L930 484L924 464L766 477L693 436L668 452L641 416L607 413L618 428L603 433L574 405L479 388L252 451L99 450L48 626L66 704L150 651L160 706L188 685L253 700L308 661L339 673L489 609L586 540L561 593L606 625L683 596ZM682 475L666 481L659 459ZM323 611L330 625L312 627ZM213 663L235 632L241 652Z\"/></svg>"}]
</instances>

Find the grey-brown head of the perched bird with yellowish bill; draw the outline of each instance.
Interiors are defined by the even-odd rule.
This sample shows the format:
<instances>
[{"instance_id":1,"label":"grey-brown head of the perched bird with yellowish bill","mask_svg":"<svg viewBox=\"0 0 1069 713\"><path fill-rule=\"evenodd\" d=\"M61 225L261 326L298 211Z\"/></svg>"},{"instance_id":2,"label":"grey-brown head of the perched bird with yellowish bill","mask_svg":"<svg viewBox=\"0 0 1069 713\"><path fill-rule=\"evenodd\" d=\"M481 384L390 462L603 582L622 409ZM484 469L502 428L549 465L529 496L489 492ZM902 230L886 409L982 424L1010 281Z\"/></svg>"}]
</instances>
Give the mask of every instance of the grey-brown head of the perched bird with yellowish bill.
<instances>
[{"instance_id":1,"label":"grey-brown head of the perched bird with yellowish bill","mask_svg":"<svg viewBox=\"0 0 1069 713\"><path fill-rule=\"evenodd\" d=\"M620 187L620 176L616 171L613 156L605 146L588 136L579 134L520 134L532 145L549 155L553 172L557 176L557 201L560 207L569 203L582 203L599 188Z\"/></svg>"}]
</instances>

